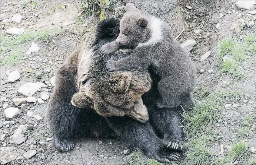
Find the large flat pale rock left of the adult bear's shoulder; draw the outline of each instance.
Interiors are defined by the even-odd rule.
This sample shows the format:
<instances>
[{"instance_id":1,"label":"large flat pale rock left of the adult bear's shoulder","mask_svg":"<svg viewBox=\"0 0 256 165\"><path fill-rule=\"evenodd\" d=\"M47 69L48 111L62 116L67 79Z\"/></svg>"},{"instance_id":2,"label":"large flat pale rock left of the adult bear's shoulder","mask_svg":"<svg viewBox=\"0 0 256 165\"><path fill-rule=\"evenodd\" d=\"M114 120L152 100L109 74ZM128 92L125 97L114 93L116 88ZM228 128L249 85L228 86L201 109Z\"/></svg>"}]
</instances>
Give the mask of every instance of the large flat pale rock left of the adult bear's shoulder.
<instances>
[{"instance_id":1,"label":"large flat pale rock left of the adult bear's shoulder","mask_svg":"<svg viewBox=\"0 0 256 165\"><path fill-rule=\"evenodd\" d=\"M27 82L26 84L22 85L17 92L19 94L23 94L27 97L32 96L34 93L38 91L39 88L46 88L47 85L45 85L42 82Z\"/></svg>"}]
</instances>

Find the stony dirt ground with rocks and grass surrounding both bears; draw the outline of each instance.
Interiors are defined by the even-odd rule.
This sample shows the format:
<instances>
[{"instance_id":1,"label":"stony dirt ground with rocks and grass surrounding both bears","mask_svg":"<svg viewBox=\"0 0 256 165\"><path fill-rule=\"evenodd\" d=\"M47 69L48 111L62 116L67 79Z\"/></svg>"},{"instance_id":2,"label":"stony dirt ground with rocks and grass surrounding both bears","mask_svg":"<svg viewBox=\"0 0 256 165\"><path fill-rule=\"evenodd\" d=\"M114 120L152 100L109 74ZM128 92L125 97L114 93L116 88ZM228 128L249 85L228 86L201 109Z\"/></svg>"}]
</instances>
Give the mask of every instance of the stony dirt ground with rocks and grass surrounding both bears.
<instances>
[{"instance_id":1,"label":"stony dirt ground with rocks and grass surrounding both bears","mask_svg":"<svg viewBox=\"0 0 256 165\"><path fill-rule=\"evenodd\" d=\"M0 1L1 164L136 164L116 139L81 139L71 152L53 146L45 115L54 73L99 21L77 2ZM206 105L185 117L189 150L180 164L256 164L255 1L132 2L168 22L197 67L194 112Z\"/></svg>"}]
</instances>

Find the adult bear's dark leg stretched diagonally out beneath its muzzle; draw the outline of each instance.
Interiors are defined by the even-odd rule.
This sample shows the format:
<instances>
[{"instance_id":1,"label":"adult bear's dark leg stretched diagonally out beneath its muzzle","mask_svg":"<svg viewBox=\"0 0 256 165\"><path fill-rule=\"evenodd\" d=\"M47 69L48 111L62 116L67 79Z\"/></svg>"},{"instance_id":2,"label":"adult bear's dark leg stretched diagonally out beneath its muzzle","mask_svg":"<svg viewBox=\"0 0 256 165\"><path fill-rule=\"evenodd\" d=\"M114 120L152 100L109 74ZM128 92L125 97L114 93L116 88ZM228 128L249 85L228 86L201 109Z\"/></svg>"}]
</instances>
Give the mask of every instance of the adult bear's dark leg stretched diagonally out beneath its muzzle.
<instances>
[{"instance_id":1,"label":"adult bear's dark leg stretched diagonally out beneath its muzzle","mask_svg":"<svg viewBox=\"0 0 256 165\"><path fill-rule=\"evenodd\" d=\"M110 127L127 147L140 148L149 158L160 162L177 160L180 155L164 146L150 123L139 123L130 117L106 117Z\"/></svg>"}]
</instances>

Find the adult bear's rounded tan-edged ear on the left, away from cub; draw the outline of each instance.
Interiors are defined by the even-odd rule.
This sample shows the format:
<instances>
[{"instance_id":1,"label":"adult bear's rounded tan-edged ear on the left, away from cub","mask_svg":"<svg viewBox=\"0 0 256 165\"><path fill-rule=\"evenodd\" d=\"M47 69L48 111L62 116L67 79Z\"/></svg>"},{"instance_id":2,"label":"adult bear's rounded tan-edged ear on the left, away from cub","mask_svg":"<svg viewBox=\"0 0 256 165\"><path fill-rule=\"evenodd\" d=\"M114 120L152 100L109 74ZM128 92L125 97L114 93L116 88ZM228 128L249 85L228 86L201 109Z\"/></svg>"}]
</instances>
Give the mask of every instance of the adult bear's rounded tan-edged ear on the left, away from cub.
<instances>
[{"instance_id":1,"label":"adult bear's rounded tan-edged ear on the left, away from cub","mask_svg":"<svg viewBox=\"0 0 256 165\"><path fill-rule=\"evenodd\" d=\"M72 105L77 108L92 107L93 101L86 94L79 92L73 95L71 100Z\"/></svg>"}]
</instances>

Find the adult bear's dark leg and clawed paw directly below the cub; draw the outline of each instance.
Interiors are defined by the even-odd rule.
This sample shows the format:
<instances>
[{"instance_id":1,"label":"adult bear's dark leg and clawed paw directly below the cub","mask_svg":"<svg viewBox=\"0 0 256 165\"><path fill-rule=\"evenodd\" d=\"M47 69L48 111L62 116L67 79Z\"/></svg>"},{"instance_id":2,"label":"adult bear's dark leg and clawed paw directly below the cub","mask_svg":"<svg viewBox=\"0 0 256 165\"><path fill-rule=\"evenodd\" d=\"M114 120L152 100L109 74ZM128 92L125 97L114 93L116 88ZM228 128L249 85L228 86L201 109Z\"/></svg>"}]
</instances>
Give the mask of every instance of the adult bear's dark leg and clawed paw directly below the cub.
<instances>
[{"instance_id":1,"label":"adult bear's dark leg and clawed paw directly below the cub","mask_svg":"<svg viewBox=\"0 0 256 165\"><path fill-rule=\"evenodd\" d=\"M174 150L184 150L182 110L160 108L150 113L150 122L156 131L163 134L164 144Z\"/></svg>"}]
</instances>

